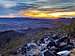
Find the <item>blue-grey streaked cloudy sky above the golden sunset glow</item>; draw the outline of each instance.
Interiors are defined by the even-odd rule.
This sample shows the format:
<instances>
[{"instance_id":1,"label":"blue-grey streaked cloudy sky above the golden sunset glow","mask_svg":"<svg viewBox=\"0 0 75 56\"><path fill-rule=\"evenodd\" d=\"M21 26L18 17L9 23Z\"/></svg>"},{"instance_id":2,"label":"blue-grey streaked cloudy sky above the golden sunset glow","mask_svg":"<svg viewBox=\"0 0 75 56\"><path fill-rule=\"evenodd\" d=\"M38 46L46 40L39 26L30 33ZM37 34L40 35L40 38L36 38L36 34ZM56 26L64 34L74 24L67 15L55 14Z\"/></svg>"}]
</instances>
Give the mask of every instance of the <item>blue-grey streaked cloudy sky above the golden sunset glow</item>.
<instances>
[{"instance_id":1,"label":"blue-grey streaked cloudy sky above the golden sunset glow","mask_svg":"<svg viewBox=\"0 0 75 56\"><path fill-rule=\"evenodd\" d=\"M75 0L0 0L0 16L17 16L18 12L35 7L74 9Z\"/></svg>"}]
</instances>

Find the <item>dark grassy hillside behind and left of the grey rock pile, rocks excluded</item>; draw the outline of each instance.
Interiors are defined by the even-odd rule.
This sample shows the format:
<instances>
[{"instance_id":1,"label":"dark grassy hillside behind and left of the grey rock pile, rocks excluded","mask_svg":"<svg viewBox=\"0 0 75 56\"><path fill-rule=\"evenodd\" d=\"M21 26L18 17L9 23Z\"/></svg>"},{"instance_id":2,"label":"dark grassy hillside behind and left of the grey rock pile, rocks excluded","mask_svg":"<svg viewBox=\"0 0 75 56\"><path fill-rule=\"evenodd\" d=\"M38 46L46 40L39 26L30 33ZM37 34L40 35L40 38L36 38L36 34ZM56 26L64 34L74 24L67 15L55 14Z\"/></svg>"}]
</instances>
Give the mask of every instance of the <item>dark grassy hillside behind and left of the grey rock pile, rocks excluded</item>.
<instances>
[{"instance_id":1,"label":"dark grassy hillside behind and left of the grey rock pile, rocks excluded","mask_svg":"<svg viewBox=\"0 0 75 56\"><path fill-rule=\"evenodd\" d=\"M0 54L4 56L10 56L10 53L15 53L16 49L23 46L25 43L31 41L36 42L41 39L45 34L49 35L54 32L54 34L62 34L63 31L55 31L56 29L50 28L37 28L30 30L22 30L22 32L9 30L0 32ZM66 32L65 32L66 33ZM66 33L67 34L67 33ZM75 33L70 34L70 37L75 37ZM72 38L71 37L71 38Z\"/></svg>"}]
</instances>

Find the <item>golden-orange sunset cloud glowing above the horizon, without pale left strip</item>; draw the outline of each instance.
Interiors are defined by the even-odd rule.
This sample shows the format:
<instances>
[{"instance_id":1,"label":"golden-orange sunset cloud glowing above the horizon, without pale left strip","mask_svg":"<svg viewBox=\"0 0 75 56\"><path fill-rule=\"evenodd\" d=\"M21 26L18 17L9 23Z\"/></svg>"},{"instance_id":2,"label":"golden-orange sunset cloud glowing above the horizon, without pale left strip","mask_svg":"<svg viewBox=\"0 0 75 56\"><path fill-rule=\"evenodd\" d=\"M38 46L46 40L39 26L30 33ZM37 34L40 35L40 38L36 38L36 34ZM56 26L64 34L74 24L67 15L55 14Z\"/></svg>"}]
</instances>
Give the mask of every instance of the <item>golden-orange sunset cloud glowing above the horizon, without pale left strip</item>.
<instances>
[{"instance_id":1,"label":"golden-orange sunset cloud glowing above the horizon, without pale left strip","mask_svg":"<svg viewBox=\"0 0 75 56\"><path fill-rule=\"evenodd\" d=\"M21 13L22 16L32 17L32 18L62 18L62 17L73 17L75 16L75 11L69 12L49 12L40 10L26 10Z\"/></svg>"}]
</instances>

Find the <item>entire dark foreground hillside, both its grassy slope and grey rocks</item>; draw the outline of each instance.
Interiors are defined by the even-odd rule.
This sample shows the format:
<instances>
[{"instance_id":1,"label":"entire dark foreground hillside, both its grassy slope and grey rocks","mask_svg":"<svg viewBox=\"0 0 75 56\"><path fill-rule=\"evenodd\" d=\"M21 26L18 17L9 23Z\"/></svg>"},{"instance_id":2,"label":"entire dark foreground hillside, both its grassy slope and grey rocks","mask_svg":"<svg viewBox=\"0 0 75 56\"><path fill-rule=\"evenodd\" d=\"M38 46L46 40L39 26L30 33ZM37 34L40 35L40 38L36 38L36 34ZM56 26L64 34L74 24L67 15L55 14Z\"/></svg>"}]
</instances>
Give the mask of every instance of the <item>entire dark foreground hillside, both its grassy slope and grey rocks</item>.
<instances>
[{"instance_id":1,"label":"entire dark foreground hillside, both its grassy slope and grey rocks","mask_svg":"<svg viewBox=\"0 0 75 56\"><path fill-rule=\"evenodd\" d=\"M24 32L11 30L1 32L0 40L0 54L3 56L25 56L35 53L37 56L44 55L44 53L45 56L48 56L46 53L59 56L59 52L61 51L67 52L70 56L75 56L74 32L69 35L66 32L53 31L48 28L39 28ZM30 45L30 49L27 48L28 45ZM52 53L50 52L51 50L53 51Z\"/></svg>"}]
</instances>

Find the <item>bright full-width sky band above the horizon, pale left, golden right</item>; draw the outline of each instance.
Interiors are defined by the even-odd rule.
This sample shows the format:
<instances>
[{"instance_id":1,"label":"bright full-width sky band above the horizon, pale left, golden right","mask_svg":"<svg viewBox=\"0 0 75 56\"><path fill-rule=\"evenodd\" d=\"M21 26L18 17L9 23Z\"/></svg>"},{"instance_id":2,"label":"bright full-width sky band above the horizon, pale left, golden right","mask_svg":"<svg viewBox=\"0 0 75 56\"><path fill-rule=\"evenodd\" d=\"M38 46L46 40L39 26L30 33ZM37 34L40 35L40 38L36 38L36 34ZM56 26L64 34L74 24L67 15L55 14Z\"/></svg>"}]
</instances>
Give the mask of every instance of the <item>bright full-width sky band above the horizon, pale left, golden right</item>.
<instances>
[{"instance_id":1,"label":"bright full-width sky band above the horizon, pale left, golden right","mask_svg":"<svg viewBox=\"0 0 75 56\"><path fill-rule=\"evenodd\" d=\"M24 12L24 11L23 11ZM31 18L31 19L58 19L58 18L74 18L75 17L75 11L70 11L70 12L53 12L53 13L44 13L42 11L28 11L28 13L25 13L24 15L20 14L20 15L2 15L0 16L0 18L16 18L16 17L27 17L27 18ZM32 14L33 12L33 14ZM35 14L36 13L36 14ZM38 14L39 13L39 14ZM43 13L43 15L41 15L41 13ZM44 15L47 15L46 17L44 17ZM38 17L40 15L40 17ZM51 17L52 16L52 17Z\"/></svg>"}]
</instances>

